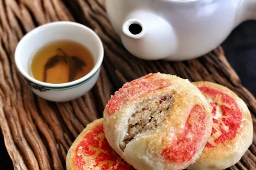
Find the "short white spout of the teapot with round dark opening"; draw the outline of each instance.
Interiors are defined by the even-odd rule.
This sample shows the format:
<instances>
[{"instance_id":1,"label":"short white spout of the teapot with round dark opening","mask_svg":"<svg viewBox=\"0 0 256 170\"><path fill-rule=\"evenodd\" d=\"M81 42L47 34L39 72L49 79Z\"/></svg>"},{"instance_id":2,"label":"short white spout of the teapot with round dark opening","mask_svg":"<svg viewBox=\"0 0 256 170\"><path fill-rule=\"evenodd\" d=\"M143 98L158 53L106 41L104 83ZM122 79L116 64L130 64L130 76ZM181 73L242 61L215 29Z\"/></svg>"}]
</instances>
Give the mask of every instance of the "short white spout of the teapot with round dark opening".
<instances>
[{"instance_id":1,"label":"short white spout of the teapot with round dark opening","mask_svg":"<svg viewBox=\"0 0 256 170\"><path fill-rule=\"evenodd\" d=\"M141 59L163 59L177 48L172 26L150 11L128 14L122 25L121 40L131 54Z\"/></svg>"}]
</instances>

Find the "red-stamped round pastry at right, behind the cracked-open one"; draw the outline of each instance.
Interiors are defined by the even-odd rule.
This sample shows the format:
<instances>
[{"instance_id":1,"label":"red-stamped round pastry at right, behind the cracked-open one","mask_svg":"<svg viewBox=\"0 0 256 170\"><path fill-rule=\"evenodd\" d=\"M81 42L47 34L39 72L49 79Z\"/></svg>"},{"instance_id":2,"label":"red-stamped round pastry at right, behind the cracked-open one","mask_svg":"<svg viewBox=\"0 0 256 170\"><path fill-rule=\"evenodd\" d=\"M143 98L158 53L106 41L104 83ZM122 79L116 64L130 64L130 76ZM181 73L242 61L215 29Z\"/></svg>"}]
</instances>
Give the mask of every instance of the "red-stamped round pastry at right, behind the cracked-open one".
<instances>
[{"instance_id":1,"label":"red-stamped round pastry at right, behind the cracked-open one","mask_svg":"<svg viewBox=\"0 0 256 170\"><path fill-rule=\"evenodd\" d=\"M212 105L213 127L200 158L188 170L223 170L236 164L253 140L246 104L230 89L212 82L194 82Z\"/></svg>"}]
</instances>

